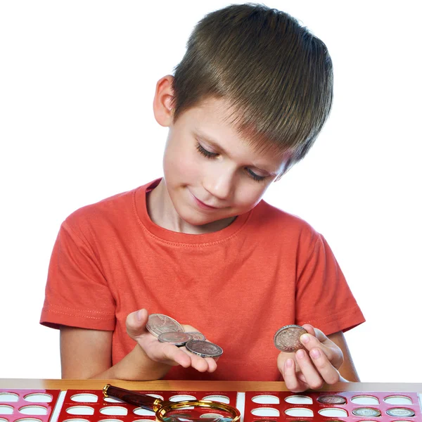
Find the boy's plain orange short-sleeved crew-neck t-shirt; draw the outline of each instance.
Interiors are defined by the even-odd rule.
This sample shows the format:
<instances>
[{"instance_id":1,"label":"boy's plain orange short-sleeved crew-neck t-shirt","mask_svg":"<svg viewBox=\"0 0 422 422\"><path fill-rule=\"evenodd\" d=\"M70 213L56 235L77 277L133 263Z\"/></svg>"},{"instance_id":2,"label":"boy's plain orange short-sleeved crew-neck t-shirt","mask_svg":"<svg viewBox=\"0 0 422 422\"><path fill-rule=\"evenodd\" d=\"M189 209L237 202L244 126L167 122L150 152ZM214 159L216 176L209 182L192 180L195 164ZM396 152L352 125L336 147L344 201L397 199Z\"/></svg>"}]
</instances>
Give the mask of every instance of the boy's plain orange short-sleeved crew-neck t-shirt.
<instances>
[{"instance_id":1,"label":"boy's plain orange short-sleeved crew-neck t-shirt","mask_svg":"<svg viewBox=\"0 0 422 422\"><path fill-rule=\"evenodd\" d=\"M146 308L224 350L215 373L174 366L165 378L279 381L281 326L312 324L329 335L364 321L325 239L302 219L262 200L215 233L169 231L146 209L158 181L63 222L41 324L113 331L115 364L135 345L127 314Z\"/></svg>"}]
</instances>

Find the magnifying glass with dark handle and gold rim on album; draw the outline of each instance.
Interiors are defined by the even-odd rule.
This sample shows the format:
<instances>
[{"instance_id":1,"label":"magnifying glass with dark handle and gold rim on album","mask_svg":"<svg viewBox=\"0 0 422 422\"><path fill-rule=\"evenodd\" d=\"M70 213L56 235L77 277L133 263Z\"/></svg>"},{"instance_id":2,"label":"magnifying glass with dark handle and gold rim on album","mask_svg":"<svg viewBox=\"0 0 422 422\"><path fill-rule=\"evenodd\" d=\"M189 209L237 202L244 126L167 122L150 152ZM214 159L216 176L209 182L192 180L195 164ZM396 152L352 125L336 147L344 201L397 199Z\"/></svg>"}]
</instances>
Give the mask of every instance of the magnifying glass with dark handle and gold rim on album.
<instances>
[{"instance_id":1,"label":"magnifying glass with dark handle and gold rim on album","mask_svg":"<svg viewBox=\"0 0 422 422\"><path fill-rule=\"evenodd\" d=\"M103 395L155 411L157 422L238 422L241 418L236 407L210 400L170 402L110 384L104 386Z\"/></svg>"}]
</instances>

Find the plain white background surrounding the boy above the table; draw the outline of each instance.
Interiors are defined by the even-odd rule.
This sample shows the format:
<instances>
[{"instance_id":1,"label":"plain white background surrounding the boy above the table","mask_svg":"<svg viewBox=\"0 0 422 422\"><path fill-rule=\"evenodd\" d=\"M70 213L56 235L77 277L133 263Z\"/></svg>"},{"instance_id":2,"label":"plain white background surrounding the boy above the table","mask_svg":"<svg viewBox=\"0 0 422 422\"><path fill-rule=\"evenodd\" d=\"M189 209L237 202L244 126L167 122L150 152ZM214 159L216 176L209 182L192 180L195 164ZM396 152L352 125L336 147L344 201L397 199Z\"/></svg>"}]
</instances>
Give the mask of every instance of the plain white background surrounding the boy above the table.
<instances>
[{"instance_id":1,"label":"plain white background surrounding the boy above the table","mask_svg":"<svg viewBox=\"0 0 422 422\"><path fill-rule=\"evenodd\" d=\"M1 1L1 378L60 378L58 332L38 324L60 223L160 177L155 83L193 25L227 4ZM265 199L333 248L367 319L346 334L362 381L421 382L418 2L266 4L327 44L335 103L307 158Z\"/></svg>"}]
</instances>

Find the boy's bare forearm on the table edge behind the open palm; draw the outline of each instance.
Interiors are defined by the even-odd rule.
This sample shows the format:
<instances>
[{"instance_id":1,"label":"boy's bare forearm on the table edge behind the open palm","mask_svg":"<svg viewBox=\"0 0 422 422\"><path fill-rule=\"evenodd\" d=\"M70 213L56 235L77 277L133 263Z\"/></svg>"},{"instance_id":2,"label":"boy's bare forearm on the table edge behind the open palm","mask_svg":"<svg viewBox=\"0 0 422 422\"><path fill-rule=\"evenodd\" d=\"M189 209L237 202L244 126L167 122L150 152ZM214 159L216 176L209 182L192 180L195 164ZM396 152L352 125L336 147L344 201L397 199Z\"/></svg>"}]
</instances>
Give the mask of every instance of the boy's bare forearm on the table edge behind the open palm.
<instances>
[{"instance_id":1,"label":"boy's bare forearm on the table edge behind the open palm","mask_svg":"<svg viewBox=\"0 0 422 422\"><path fill-rule=\"evenodd\" d=\"M136 344L132 352L127 354L120 362L106 369L106 371L97 373L89 378L152 381L165 376L171 368L172 366L170 365L161 364L149 359L141 346Z\"/></svg>"}]
</instances>

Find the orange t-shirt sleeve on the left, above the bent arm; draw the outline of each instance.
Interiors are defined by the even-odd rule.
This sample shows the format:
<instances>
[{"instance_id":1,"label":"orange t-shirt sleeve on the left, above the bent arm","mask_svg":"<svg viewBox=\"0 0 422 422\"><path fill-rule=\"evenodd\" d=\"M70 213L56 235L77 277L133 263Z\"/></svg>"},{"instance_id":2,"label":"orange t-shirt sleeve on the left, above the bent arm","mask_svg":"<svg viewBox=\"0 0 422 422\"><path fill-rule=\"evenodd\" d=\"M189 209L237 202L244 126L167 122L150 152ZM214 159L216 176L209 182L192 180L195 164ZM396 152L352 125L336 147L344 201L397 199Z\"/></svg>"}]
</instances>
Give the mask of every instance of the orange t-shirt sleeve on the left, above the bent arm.
<instances>
[{"instance_id":1,"label":"orange t-shirt sleeve on the left, above the bent arm","mask_svg":"<svg viewBox=\"0 0 422 422\"><path fill-rule=\"evenodd\" d=\"M53 247L40 323L113 331L115 300L96 254L81 233L63 222Z\"/></svg>"}]
</instances>

